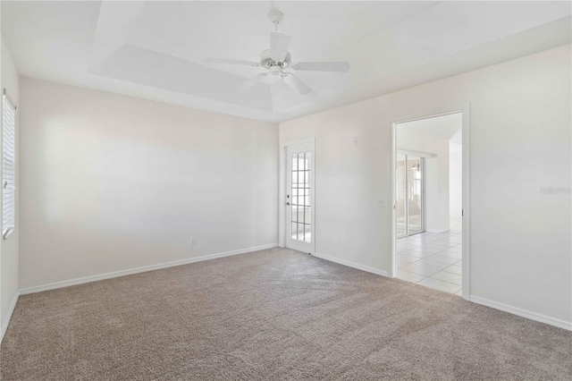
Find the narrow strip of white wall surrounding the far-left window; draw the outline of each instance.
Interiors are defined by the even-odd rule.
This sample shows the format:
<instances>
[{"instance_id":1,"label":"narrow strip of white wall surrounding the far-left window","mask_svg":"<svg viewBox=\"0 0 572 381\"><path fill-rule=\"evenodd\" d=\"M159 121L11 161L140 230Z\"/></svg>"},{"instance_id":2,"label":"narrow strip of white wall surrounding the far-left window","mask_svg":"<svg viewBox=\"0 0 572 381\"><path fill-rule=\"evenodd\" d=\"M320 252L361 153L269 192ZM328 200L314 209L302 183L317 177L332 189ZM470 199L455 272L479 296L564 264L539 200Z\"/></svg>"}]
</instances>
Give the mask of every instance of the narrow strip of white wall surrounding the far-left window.
<instances>
[{"instance_id":1,"label":"narrow strip of white wall surrounding the far-left window","mask_svg":"<svg viewBox=\"0 0 572 381\"><path fill-rule=\"evenodd\" d=\"M2 40L2 76L0 77L0 89L6 89L8 96L16 104L16 158L18 157L18 147L20 142L20 96L19 96L19 77L18 72L13 64L12 56L8 51L8 47ZM2 106L0 106L0 121L2 120ZM0 129L1 131L1 129ZM0 145L0 147L2 147ZM20 207L18 189L19 184L19 168L20 165L16 161L16 215L15 230L8 238L2 240L0 238L0 326L1 336L8 325L10 315L14 306L15 298L18 296L18 244L20 235ZM2 198L0 198L0 203ZM1 229L0 229L1 231Z\"/></svg>"}]
</instances>

